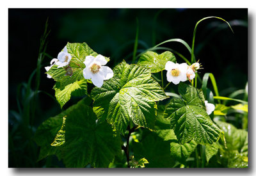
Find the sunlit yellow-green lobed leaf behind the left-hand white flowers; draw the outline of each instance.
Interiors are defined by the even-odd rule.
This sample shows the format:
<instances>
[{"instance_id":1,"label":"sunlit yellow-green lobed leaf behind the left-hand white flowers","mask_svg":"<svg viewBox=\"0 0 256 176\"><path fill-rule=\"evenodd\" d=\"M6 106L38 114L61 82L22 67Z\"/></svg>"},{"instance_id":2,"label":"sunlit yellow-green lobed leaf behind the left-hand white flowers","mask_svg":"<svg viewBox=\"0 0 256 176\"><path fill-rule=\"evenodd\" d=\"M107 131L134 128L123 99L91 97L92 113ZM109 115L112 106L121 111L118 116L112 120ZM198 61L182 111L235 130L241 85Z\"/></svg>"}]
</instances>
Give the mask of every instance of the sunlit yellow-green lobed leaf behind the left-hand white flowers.
<instances>
[{"instance_id":1,"label":"sunlit yellow-green lobed leaf behind the left-hand white flowers","mask_svg":"<svg viewBox=\"0 0 256 176\"><path fill-rule=\"evenodd\" d=\"M86 56L97 56L86 43L67 43L67 51L72 56L68 67L57 68L54 65L48 72L56 81L54 85L55 96L60 103L61 108L71 95L79 96L87 94L87 81L83 78L84 60ZM109 61L109 58L105 59Z\"/></svg>"}]
</instances>

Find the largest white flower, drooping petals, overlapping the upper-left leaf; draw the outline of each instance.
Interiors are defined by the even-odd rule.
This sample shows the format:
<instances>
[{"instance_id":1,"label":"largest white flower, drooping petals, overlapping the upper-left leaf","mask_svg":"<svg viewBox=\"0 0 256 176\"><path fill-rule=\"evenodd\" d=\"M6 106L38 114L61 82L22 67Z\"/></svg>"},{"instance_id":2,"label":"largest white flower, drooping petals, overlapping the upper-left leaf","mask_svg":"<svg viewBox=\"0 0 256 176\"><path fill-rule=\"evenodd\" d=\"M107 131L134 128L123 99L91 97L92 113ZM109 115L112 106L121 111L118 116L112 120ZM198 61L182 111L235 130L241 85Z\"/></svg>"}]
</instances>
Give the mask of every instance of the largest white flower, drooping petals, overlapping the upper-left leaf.
<instances>
[{"instance_id":1,"label":"largest white flower, drooping petals, overlapping the upper-left leaf","mask_svg":"<svg viewBox=\"0 0 256 176\"><path fill-rule=\"evenodd\" d=\"M103 81L110 79L114 76L113 70L106 65L108 61L102 55L98 55L95 57L93 56L86 56L84 60L84 65L86 66L83 70L83 76L85 79L92 79L92 83L97 86L101 87L103 85Z\"/></svg>"}]
</instances>

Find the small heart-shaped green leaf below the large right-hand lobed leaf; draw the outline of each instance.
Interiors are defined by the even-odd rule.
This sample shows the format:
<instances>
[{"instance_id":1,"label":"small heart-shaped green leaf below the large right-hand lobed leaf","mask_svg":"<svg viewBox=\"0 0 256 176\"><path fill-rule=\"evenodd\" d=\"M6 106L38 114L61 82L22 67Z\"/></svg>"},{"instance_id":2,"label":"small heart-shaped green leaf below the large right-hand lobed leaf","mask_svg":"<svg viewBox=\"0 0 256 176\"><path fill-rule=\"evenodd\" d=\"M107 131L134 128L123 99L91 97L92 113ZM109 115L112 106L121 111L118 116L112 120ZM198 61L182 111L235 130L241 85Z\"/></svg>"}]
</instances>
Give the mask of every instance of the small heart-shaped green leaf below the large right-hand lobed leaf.
<instances>
[{"instance_id":1,"label":"small heart-shaped green leaf below the large right-hand lobed leaf","mask_svg":"<svg viewBox=\"0 0 256 176\"><path fill-rule=\"evenodd\" d=\"M170 143L171 156L180 163L186 163L186 159L195 150L197 143L191 140L189 143L180 144L178 141Z\"/></svg>"}]
</instances>

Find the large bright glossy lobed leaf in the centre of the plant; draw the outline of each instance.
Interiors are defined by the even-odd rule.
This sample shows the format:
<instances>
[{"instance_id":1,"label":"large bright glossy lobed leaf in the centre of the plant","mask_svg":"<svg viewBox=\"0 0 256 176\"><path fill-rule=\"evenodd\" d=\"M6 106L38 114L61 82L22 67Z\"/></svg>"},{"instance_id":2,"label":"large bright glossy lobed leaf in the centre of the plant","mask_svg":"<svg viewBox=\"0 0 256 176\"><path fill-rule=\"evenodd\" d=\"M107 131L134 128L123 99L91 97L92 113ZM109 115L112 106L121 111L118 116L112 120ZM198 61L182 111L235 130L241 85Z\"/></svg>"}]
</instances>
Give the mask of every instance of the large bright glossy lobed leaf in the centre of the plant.
<instances>
[{"instance_id":1,"label":"large bright glossy lobed leaf in the centre of the plant","mask_svg":"<svg viewBox=\"0 0 256 176\"><path fill-rule=\"evenodd\" d=\"M93 88L93 111L100 120L107 120L120 132L125 132L130 120L153 129L157 111L155 101L167 96L151 77L150 69L123 61L113 72L114 77L104 81L101 88Z\"/></svg>"}]
</instances>

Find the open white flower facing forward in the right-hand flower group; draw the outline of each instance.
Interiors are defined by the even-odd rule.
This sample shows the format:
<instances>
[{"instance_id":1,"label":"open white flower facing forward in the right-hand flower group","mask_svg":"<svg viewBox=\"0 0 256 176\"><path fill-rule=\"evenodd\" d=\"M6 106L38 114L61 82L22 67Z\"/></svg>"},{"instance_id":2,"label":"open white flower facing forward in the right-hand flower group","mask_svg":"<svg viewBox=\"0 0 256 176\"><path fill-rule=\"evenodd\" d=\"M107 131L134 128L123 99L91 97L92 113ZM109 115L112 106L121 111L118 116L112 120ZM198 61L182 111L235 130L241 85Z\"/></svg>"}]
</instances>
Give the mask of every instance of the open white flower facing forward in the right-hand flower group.
<instances>
[{"instance_id":1,"label":"open white flower facing forward in the right-hand flower group","mask_svg":"<svg viewBox=\"0 0 256 176\"><path fill-rule=\"evenodd\" d=\"M165 64L165 70L167 70L167 81L172 82L173 84L179 84L180 81L187 81L187 63L179 64L167 61Z\"/></svg>"}]
</instances>

